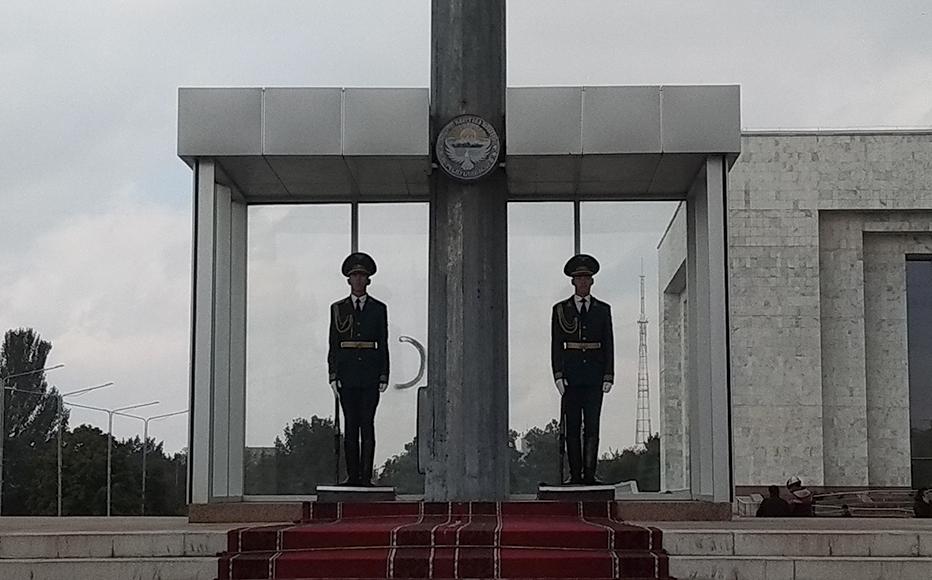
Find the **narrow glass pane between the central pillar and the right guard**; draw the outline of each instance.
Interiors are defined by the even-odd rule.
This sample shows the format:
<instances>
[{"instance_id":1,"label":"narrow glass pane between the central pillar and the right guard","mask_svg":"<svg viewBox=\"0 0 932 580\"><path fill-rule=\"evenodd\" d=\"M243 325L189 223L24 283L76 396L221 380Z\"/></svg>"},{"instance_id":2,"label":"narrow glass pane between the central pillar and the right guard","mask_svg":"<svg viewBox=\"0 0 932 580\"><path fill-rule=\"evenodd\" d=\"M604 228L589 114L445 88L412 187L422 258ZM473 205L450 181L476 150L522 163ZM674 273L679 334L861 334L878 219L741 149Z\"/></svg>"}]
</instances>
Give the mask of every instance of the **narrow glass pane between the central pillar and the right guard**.
<instances>
[{"instance_id":1,"label":"narrow glass pane between the central pillar and the right guard","mask_svg":"<svg viewBox=\"0 0 932 580\"><path fill-rule=\"evenodd\" d=\"M550 312L572 294L572 203L508 204L509 423L517 436L512 493L556 483L560 397L550 369Z\"/></svg>"}]
</instances>

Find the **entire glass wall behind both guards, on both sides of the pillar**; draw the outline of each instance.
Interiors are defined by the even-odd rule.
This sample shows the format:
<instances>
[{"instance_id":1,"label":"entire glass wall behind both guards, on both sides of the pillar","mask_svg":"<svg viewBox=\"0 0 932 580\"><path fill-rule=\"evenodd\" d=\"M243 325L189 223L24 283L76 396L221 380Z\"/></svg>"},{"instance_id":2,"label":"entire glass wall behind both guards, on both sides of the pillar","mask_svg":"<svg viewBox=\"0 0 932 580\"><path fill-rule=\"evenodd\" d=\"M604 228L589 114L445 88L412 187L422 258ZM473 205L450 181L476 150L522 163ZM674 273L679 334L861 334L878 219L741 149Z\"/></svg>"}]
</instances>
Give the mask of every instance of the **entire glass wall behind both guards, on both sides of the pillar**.
<instances>
[{"instance_id":1,"label":"entire glass wall behind both guards, on both sides of the pillar","mask_svg":"<svg viewBox=\"0 0 932 580\"><path fill-rule=\"evenodd\" d=\"M601 263L592 294L612 305L615 387L602 408L599 477L659 489L659 444L635 446L639 276L646 276L651 433L658 421L657 243L674 203L528 202L508 205L512 493L557 483L560 397L550 368L552 305L573 293L563 274L580 250ZM417 349L427 347L426 203L250 206L247 261L245 493L310 495L336 473L334 399L327 384L328 307L349 288L340 273L353 247L375 258L369 292L388 305L392 386L376 414L376 479L419 493ZM409 388L396 388L396 384Z\"/></svg>"}]
</instances>

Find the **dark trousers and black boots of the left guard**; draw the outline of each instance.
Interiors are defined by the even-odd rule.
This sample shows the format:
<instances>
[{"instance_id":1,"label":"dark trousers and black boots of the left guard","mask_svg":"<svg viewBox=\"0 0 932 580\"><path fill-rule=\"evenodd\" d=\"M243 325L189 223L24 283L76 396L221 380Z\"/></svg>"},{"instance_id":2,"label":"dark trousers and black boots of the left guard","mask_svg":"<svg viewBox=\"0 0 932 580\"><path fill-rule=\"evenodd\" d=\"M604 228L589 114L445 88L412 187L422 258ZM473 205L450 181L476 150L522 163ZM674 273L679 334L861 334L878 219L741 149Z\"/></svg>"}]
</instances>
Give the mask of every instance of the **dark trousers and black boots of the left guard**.
<instances>
[{"instance_id":1,"label":"dark trousers and black boots of the left guard","mask_svg":"<svg viewBox=\"0 0 932 580\"><path fill-rule=\"evenodd\" d=\"M343 455L350 483L372 482L372 461L375 459L375 408L379 405L379 389L340 389L343 408Z\"/></svg>"}]
</instances>

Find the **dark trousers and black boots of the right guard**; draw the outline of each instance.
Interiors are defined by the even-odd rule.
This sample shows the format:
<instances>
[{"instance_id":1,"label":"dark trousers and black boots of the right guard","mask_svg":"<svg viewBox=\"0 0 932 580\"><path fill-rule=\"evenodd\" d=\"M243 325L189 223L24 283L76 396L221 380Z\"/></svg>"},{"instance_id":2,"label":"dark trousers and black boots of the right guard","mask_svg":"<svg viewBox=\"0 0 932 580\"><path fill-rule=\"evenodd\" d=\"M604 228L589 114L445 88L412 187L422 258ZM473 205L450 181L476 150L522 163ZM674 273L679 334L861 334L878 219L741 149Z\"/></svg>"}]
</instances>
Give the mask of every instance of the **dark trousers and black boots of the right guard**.
<instances>
[{"instance_id":1,"label":"dark trousers and black boots of the right guard","mask_svg":"<svg viewBox=\"0 0 932 580\"><path fill-rule=\"evenodd\" d=\"M599 416L602 414L602 388L567 387L563 395L566 414L566 460L573 483L591 482L599 461ZM582 433L582 436L580 436Z\"/></svg>"}]
</instances>

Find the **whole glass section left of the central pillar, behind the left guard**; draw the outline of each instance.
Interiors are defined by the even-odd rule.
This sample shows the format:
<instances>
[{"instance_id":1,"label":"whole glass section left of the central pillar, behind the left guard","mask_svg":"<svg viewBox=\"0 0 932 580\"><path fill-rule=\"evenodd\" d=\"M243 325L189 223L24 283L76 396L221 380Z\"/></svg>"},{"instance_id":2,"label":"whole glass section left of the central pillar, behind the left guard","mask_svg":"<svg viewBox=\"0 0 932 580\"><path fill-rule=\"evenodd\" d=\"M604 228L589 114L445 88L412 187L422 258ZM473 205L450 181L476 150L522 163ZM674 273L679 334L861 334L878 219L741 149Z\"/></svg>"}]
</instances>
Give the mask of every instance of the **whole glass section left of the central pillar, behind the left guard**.
<instances>
[{"instance_id":1,"label":"whole glass section left of the central pillar, behind the left guard","mask_svg":"<svg viewBox=\"0 0 932 580\"><path fill-rule=\"evenodd\" d=\"M398 337L427 343L427 204L358 207L358 248L378 264L369 292L388 305L390 382L409 382L420 359ZM349 294L352 220L350 204L249 208L246 495L309 495L337 478L329 305ZM382 395L377 473L404 453L415 417L415 389Z\"/></svg>"}]
</instances>

